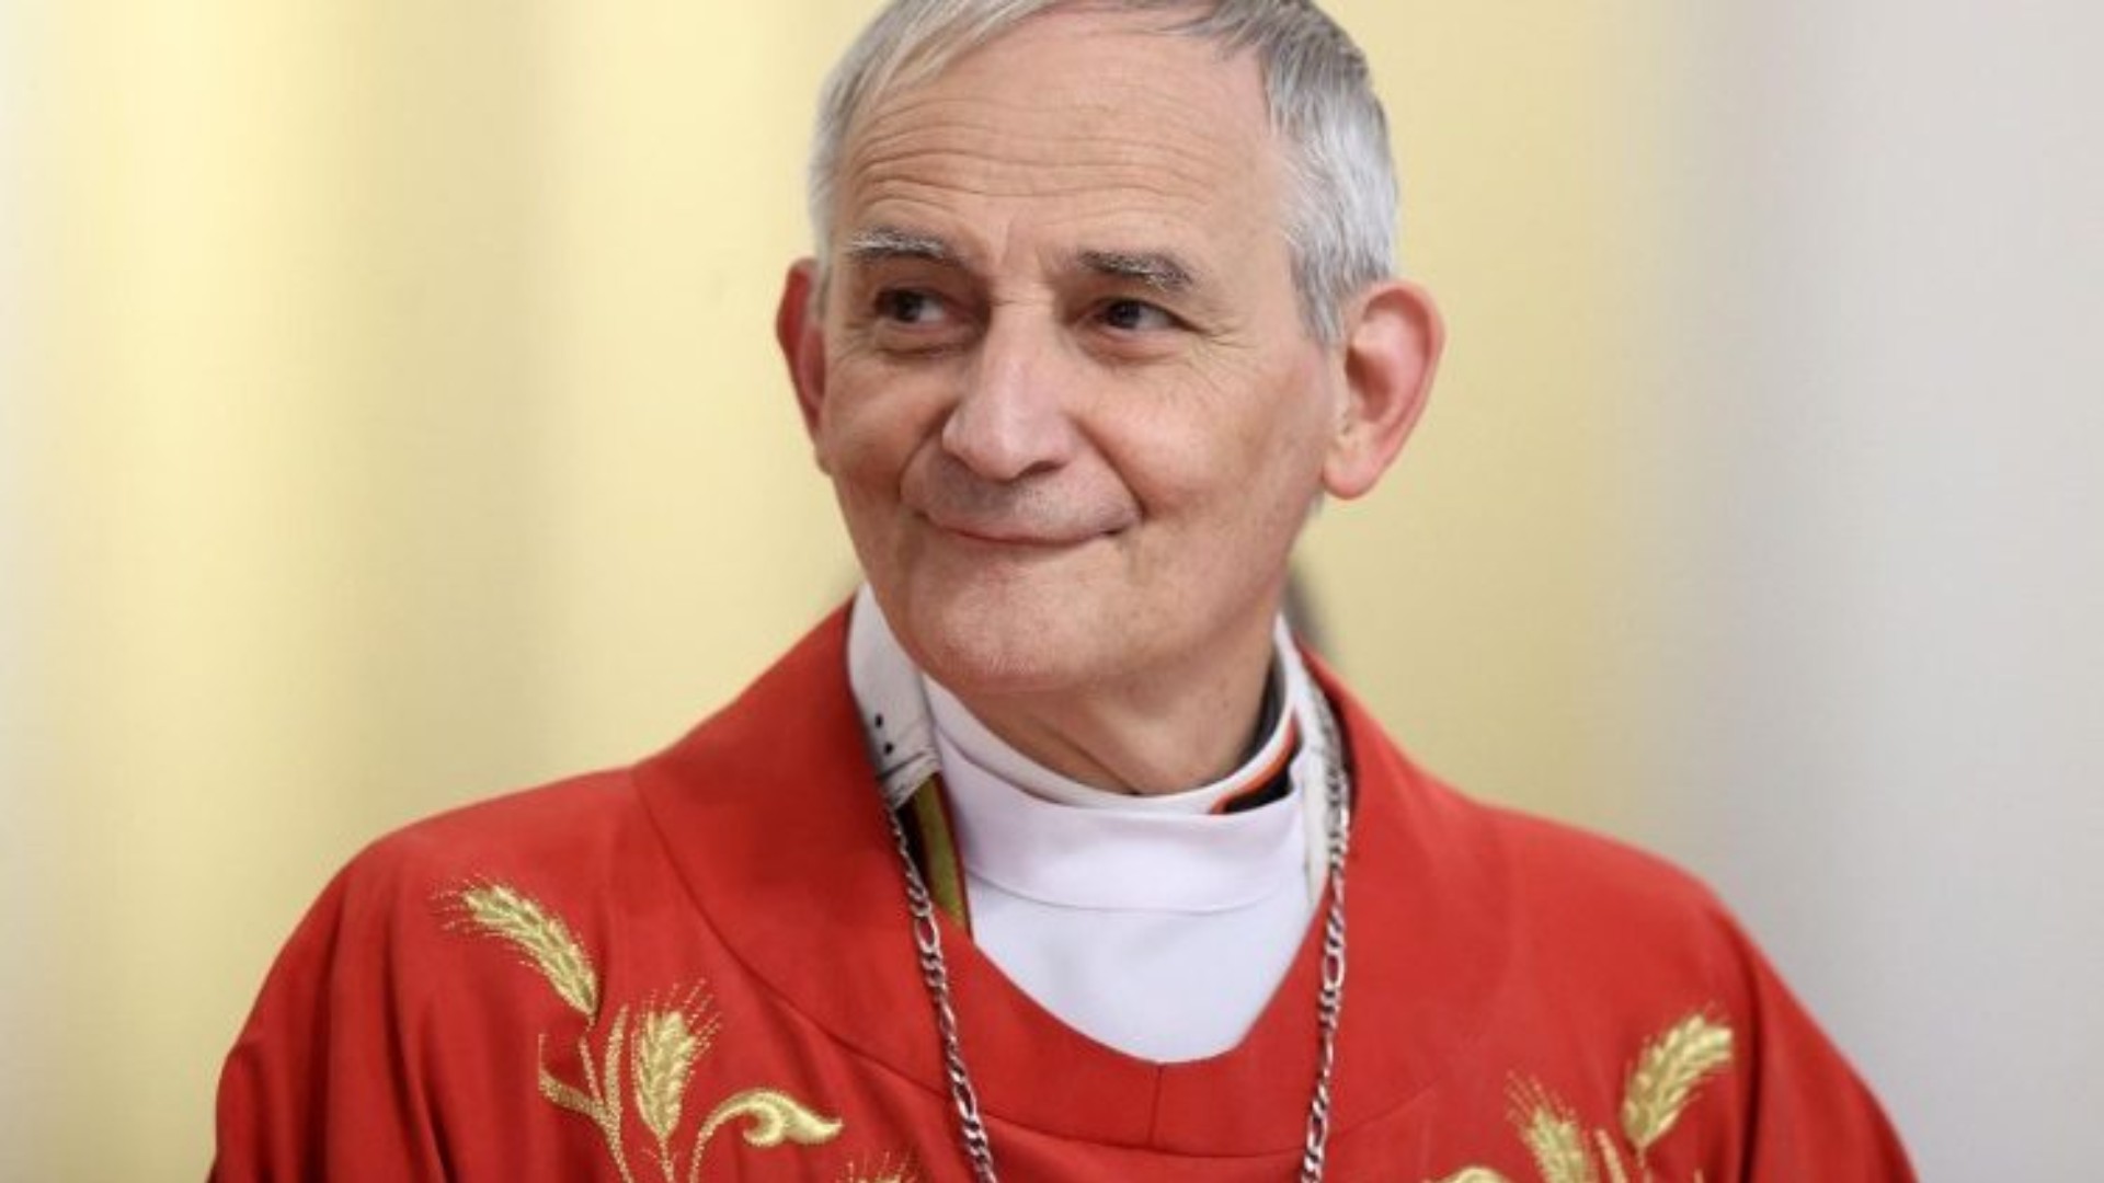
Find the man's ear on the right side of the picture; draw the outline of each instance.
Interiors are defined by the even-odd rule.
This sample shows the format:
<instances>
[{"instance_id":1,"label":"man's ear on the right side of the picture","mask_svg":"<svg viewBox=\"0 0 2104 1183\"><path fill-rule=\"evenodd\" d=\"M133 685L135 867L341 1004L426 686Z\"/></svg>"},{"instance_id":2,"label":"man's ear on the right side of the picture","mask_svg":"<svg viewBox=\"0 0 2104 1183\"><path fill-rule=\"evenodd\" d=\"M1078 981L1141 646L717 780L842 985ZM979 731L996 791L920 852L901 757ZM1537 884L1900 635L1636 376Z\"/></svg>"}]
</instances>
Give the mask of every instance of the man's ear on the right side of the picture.
<instances>
[{"instance_id":1,"label":"man's ear on the right side of the picture","mask_svg":"<svg viewBox=\"0 0 2104 1183\"><path fill-rule=\"evenodd\" d=\"M1344 406L1323 461L1332 497L1363 497L1389 469L1416 427L1445 347L1433 297L1387 280L1351 305L1344 324Z\"/></svg>"}]
</instances>

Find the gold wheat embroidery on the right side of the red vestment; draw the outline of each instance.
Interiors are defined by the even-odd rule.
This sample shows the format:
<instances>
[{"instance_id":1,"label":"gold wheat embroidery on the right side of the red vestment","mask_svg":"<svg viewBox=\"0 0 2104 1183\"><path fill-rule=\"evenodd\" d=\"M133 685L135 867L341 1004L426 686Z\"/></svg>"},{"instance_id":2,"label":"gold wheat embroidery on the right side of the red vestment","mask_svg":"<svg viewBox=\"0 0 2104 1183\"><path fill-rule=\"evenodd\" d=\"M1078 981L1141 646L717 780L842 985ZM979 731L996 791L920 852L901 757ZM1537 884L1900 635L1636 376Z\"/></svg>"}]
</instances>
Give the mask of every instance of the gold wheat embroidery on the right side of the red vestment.
<instances>
[{"instance_id":1,"label":"gold wheat embroidery on the right side of the red vestment","mask_svg":"<svg viewBox=\"0 0 2104 1183\"><path fill-rule=\"evenodd\" d=\"M1706 1012L1694 1012L1650 1040L1628 1071L1622 1090L1624 1151L1607 1128L1593 1128L1591 1141L1578 1114L1540 1080L1515 1078L1511 1120L1519 1141L1534 1156L1542 1183L1631 1183L1624 1154L1643 1183L1654 1183L1647 1156L1694 1103L1711 1078L1732 1065L1732 1027ZM1599 1158L1595 1160L1595 1151ZM1471 1166L1441 1183L1509 1183L1496 1170ZM1694 1183L1702 1183L1696 1172Z\"/></svg>"}]
</instances>

